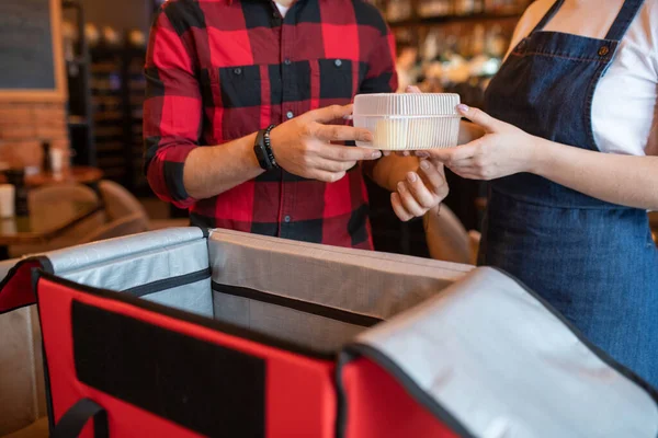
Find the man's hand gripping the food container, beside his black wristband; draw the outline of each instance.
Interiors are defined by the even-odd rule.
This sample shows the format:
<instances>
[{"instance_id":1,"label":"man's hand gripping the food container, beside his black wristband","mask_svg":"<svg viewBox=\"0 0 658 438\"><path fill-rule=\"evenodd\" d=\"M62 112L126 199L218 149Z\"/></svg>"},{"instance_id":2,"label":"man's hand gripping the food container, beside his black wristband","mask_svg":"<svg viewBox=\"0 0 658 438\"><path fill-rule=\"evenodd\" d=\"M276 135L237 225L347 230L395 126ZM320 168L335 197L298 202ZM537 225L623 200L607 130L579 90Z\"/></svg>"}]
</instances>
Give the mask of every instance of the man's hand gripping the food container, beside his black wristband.
<instances>
[{"instance_id":1,"label":"man's hand gripping the food container, beside his black wristband","mask_svg":"<svg viewBox=\"0 0 658 438\"><path fill-rule=\"evenodd\" d=\"M272 129L272 152L287 172L328 183L345 175L358 161L376 160L382 152L331 145L330 141L372 141L366 129L327 125L352 114L352 105L314 110Z\"/></svg>"}]
</instances>

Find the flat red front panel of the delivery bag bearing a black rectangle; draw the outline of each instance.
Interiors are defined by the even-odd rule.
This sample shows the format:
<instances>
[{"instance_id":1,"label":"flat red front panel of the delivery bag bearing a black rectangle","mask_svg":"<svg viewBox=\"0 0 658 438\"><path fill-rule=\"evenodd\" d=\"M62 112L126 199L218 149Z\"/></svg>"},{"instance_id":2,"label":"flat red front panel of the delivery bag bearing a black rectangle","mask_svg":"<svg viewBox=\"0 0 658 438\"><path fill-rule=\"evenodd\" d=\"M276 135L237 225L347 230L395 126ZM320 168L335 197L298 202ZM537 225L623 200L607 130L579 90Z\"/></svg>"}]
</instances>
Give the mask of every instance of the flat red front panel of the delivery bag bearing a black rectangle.
<instances>
[{"instance_id":1,"label":"flat red front panel of the delivery bag bearing a black rectangle","mask_svg":"<svg viewBox=\"0 0 658 438\"><path fill-rule=\"evenodd\" d=\"M76 355L87 354L77 349L76 346L76 343L88 342L79 339L84 337L84 333L101 333L100 337L104 336L102 332L104 328L95 326L102 322L102 319L98 324L94 321L87 321L86 327L76 327L78 316L73 313L79 312L77 309L84 309L84 312L91 310L92 312L102 312L94 314L122 318L124 320L121 321L124 323L134 321L141 324L140 327L157 330L159 331L157 333L166 333L167 336L173 336L173 339L180 339L182 335L183 339L190 339L188 344L201 342L198 345L211 353L217 346L223 350L236 351L242 355L241 357L253 358L264 364L264 406L262 408L264 415L263 418L256 418L257 423L262 422L262 427L254 427L251 423L234 424L234 429L224 430L222 436L235 436L236 427L240 426L245 430L249 430L247 435L241 436L329 438L334 435L337 399L333 388L334 365L330 360L305 357L247 338L228 335L191 321L154 311L149 309L148 304L139 306L136 299L129 300L129 297L123 297L115 292L90 291L87 288L82 290L81 287L50 276L41 277L37 280L37 296L50 385L52 417L55 419L55 425L79 400L91 399L106 410L111 437L216 436L218 430L224 430L222 429L224 425L213 424L213 415L209 415L209 419L198 418L194 417L194 412L192 412L185 418L189 424L203 423L206 427L215 428L212 433L202 434L200 430L194 430L194 427L185 427L170 417L155 414L151 412L152 410L140 407L82 382L80 376L89 373L86 369L91 369L93 374L94 366L101 367L104 376L114 372L113 360L109 360L106 364L90 365L84 361L87 359L76 358ZM111 328L107 327L107 330ZM131 342L129 337L121 334L121 327L114 333L122 338L120 342ZM186 343L183 342L184 344ZM148 348L148 345L145 345L145 348ZM192 351L190 360L194 360L194 355ZM120 361L117 356L113 357ZM164 364L162 362L162 365ZM204 364L197 362L197 365L207 368ZM216 366L220 365L216 364ZM212 366L214 367L215 364ZM136 364L135 367L138 369L140 365ZM121 380L122 377L120 376L118 379ZM164 381L183 384L182 388L185 388L185 379L193 380L190 376L183 374L171 376L170 380ZM137 387L141 384L138 380L134 383ZM116 387L125 384L126 382L123 381L115 383ZM147 400L148 403L156 406L156 411L162 408L162 404L167 404L167 400L158 399L157 394L152 394L152 396L139 394L138 391L126 388L127 392L137 393L137 399ZM110 387L110 390L112 391L114 388ZM166 388L162 391L166 391ZM182 392L183 394L177 392L172 397L182 396L184 399L185 391ZM249 411L245 406L239 406L232 400L226 400L223 394L205 394L204 392L203 396L206 395L211 401L209 405L214 410L213 412L224 415L224 418L230 419L232 411L237 413L236 415L243 412L248 412L249 415ZM154 397L156 400L150 400ZM180 411L173 411L173 416L178 414ZM83 436L92 436L91 425L87 425Z\"/></svg>"}]
</instances>

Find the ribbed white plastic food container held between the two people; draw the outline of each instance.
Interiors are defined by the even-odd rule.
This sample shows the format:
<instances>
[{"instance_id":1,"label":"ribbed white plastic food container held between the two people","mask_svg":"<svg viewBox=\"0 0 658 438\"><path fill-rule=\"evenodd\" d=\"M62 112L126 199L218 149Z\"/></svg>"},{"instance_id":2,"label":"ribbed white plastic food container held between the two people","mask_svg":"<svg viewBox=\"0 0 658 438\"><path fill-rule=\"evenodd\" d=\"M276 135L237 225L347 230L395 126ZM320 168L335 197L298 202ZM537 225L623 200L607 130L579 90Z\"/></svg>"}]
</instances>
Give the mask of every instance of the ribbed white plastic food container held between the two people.
<instances>
[{"instance_id":1,"label":"ribbed white plastic food container held between the two people","mask_svg":"<svg viewBox=\"0 0 658 438\"><path fill-rule=\"evenodd\" d=\"M373 132L379 150L419 150L457 146L460 95L452 93L381 93L354 97L353 120Z\"/></svg>"}]
</instances>

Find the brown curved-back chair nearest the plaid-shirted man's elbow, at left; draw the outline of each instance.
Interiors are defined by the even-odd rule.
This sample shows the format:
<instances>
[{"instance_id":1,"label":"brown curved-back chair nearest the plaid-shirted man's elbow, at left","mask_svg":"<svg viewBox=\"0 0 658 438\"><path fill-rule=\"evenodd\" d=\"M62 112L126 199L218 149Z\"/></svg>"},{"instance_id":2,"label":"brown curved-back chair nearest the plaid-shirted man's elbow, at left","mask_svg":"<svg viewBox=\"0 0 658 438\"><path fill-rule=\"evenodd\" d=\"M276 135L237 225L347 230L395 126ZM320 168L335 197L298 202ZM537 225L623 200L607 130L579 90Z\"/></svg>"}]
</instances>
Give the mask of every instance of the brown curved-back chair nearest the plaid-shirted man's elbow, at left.
<instances>
[{"instance_id":1,"label":"brown curved-back chair nearest the plaid-shirted man's elbow, at left","mask_svg":"<svg viewBox=\"0 0 658 438\"><path fill-rule=\"evenodd\" d=\"M169 227L188 227L188 219L150 220L146 209L139 200L125 187L113 182L103 180L99 183L99 191L105 204L105 211L111 221L132 215L140 215L148 223L149 230L158 230Z\"/></svg>"}]
</instances>

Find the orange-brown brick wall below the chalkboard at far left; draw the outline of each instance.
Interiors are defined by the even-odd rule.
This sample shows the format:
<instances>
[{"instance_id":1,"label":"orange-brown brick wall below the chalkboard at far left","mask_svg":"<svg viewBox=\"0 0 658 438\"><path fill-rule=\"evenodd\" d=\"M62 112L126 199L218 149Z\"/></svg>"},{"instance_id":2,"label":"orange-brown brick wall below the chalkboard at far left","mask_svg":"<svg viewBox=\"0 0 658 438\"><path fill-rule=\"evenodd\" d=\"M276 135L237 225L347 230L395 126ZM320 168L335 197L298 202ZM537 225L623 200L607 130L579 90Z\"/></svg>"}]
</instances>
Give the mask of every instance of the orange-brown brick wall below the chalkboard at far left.
<instances>
[{"instance_id":1,"label":"orange-brown brick wall below the chalkboard at far left","mask_svg":"<svg viewBox=\"0 0 658 438\"><path fill-rule=\"evenodd\" d=\"M55 148L69 148L64 103L0 101L1 162L12 168L41 165L44 140Z\"/></svg>"}]
</instances>

